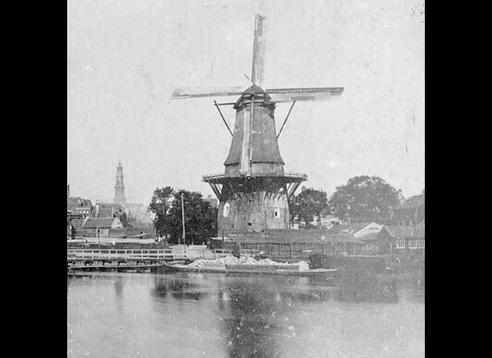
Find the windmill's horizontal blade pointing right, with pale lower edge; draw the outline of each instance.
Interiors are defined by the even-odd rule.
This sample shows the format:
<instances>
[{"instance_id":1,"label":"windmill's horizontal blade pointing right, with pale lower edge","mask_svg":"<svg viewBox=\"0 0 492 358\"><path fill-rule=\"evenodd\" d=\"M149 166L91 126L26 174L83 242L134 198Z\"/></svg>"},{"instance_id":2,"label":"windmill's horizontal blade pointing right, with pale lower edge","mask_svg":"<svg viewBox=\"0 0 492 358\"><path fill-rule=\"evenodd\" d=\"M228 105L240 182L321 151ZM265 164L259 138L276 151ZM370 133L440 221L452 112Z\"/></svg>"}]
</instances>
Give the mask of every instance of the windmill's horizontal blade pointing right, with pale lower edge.
<instances>
[{"instance_id":1,"label":"windmill's horizontal blade pointing right, with pale lower edge","mask_svg":"<svg viewBox=\"0 0 492 358\"><path fill-rule=\"evenodd\" d=\"M272 98L272 102L292 101L329 101L332 96L339 96L343 87L319 87L319 88L274 88L265 89L265 93Z\"/></svg>"}]
</instances>

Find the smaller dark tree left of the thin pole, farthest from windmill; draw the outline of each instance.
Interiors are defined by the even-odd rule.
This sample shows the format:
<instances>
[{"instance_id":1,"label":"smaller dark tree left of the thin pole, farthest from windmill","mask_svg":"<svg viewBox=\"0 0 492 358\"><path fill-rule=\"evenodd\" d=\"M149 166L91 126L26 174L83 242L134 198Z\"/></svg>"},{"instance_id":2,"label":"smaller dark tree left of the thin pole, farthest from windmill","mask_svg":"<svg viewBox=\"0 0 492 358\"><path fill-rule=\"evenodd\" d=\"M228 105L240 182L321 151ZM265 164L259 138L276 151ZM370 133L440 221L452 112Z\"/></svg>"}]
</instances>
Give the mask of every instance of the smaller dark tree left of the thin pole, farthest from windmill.
<instances>
[{"instance_id":1,"label":"smaller dark tree left of the thin pole, farthest from windmill","mask_svg":"<svg viewBox=\"0 0 492 358\"><path fill-rule=\"evenodd\" d=\"M166 237L171 231L172 221L170 211L174 198L174 189L171 187L156 188L147 210L155 214L152 220L157 235Z\"/></svg>"}]
</instances>

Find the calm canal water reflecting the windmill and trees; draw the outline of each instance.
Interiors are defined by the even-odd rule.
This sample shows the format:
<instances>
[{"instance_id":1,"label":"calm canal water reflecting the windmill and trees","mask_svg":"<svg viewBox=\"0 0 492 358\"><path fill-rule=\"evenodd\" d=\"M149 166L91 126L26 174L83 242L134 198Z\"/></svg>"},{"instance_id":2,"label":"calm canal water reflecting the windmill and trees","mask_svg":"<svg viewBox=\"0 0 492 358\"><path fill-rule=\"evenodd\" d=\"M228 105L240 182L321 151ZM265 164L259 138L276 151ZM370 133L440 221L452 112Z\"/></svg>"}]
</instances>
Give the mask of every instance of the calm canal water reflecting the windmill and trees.
<instances>
[{"instance_id":1,"label":"calm canal water reflecting the windmill and trees","mask_svg":"<svg viewBox=\"0 0 492 358\"><path fill-rule=\"evenodd\" d=\"M69 276L67 356L423 357L424 276Z\"/></svg>"}]
</instances>

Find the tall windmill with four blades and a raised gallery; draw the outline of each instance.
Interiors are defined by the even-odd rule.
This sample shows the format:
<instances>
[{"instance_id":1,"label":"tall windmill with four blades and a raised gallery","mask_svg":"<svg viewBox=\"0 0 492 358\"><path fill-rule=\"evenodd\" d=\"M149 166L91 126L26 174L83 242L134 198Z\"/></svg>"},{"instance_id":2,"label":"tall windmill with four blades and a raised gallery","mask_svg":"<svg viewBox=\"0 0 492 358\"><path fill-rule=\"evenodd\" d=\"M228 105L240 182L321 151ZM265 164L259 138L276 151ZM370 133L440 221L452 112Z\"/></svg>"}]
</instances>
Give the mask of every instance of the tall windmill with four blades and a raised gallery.
<instances>
[{"instance_id":1,"label":"tall windmill with four blades and a raised gallery","mask_svg":"<svg viewBox=\"0 0 492 358\"><path fill-rule=\"evenodd\" d=\"M217 103L219 114L232 135L231 148L223 174L204 175L219 199L218 234L236 230L261 231L290 227L289 200L308 176L284 173L278 137L296 101L324 101L341 95L343 87L267 88L263 81L265 55L264 16L256 15L253 43L252 85L240 87L190 89L176 88L171 99L240 96L233 103ZM277 103L292 102L278 132L274 111ZM236 110L234 132L220 111L221 105Z\"/></svg>"}]
</instances>

